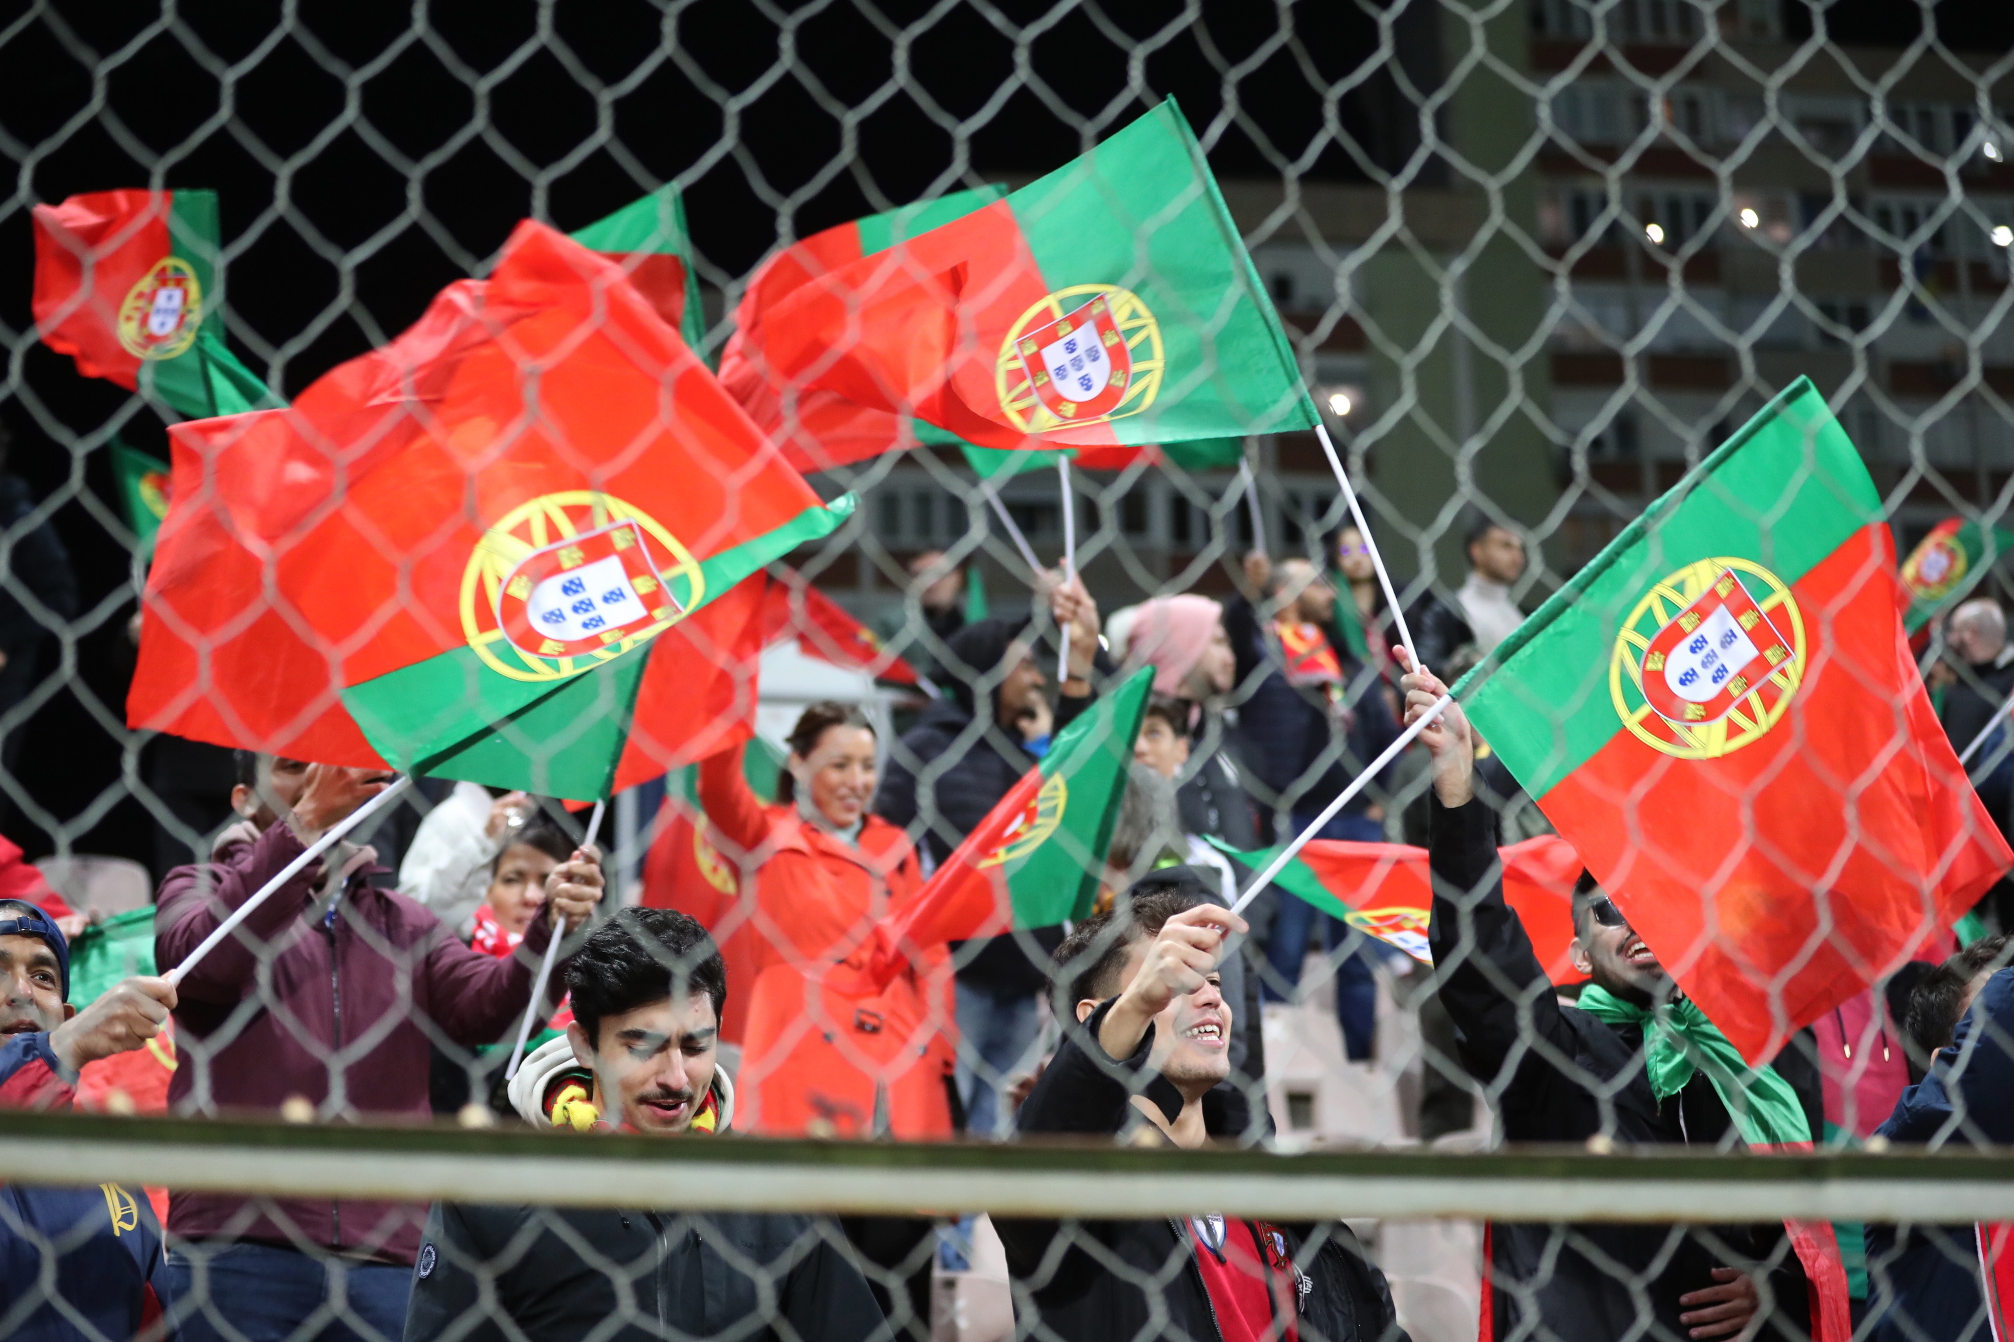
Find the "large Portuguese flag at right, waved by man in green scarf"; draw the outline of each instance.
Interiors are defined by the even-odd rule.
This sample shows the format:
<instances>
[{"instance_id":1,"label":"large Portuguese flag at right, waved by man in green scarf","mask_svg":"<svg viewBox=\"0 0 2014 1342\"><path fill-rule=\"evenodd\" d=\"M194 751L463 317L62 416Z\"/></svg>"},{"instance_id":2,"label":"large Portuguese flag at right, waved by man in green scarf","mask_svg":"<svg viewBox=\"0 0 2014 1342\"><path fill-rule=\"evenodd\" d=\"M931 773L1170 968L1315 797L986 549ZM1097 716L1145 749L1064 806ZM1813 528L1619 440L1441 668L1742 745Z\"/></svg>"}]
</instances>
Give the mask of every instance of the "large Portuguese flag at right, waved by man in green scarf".
<instances>
[{"instance_id":1,"label":"large Portuguese flag at right, waved by man in green scarf","mask_svg":"<svg viewBox=\"0 0 2014 1342\"><path fill-rule=\"evenodd\" d=\"M1456 687L1756 1064L2014 862L1909 657L1881 516L1799 379Z\"/></svg>"}]
</instances>

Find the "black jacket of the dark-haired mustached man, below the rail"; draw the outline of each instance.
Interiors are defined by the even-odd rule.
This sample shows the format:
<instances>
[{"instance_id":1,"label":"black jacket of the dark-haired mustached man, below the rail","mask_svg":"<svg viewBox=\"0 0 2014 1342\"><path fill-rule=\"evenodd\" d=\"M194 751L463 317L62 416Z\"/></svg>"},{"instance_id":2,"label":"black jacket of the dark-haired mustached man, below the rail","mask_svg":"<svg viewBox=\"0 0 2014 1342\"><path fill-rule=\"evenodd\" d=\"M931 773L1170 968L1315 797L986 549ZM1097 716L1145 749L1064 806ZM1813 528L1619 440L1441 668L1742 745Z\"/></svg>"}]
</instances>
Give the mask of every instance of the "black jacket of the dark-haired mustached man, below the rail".
<instances>
[{"instance_id":1,"label":"black jacket of the dark-haired mustached man, below the rail","mask_svg":"<svg viewBox=\"0 0 2014 1342\"><path fill-rule=\"evenodd\" d=\"M413 1265L405 1338L864 1342L882 1312L840 1241L836 1225L820 1231L810 1217L777 1213L437 1203ZM485 1278L495 1304L483 1304ZM769 1312L763 1290L775 1292Z\"/></svg>"}]
</instances>

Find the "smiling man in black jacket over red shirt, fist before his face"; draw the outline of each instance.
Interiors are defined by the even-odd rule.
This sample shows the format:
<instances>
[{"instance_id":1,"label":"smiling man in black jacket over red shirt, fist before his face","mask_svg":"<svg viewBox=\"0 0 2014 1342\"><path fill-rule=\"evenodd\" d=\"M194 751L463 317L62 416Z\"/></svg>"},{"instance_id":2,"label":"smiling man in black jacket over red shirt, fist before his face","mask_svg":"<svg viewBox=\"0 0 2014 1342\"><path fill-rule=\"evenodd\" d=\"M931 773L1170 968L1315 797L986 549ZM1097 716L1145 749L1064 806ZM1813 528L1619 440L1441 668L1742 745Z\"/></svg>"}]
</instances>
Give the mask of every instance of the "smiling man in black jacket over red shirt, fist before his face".
<instances>
[{"instance_id":1,"label":"smiling man in black jacket over red shirt, fist before his face","mask_svg":"<svg viewBox=\"0 0 2014 1342\"><path fill-rule=\"evenodd\" d=\"M1136 881L1112 913L1080 923L1055 953L1075 1026L1021 1106L1021 1134L1174 1147L1269 1136L1265 1110L1231 1080L1237 1022L1216 967L1241 931L1245 919L1206 903L1188 866ZM1198 1207L1158 1221L993 1223L1027 1336L1406 1340L1384 1273L1341 1221L1273 1225Z\"/></svg>"}]
</instances>

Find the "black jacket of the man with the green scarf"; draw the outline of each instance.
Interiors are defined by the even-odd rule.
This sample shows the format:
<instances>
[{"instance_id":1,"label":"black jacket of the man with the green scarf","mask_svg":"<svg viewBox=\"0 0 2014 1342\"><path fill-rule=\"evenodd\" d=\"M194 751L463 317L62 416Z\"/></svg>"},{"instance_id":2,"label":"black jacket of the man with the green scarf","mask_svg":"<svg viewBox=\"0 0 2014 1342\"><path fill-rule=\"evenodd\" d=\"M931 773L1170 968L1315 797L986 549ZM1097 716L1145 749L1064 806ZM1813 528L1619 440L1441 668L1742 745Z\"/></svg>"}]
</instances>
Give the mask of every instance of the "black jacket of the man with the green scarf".
<instances>
[{"instance_id":1,"label":"black jacket of the man with the green scarf","mask_svg":"<svg viewBox=\"0 0 2014 1342\"><path fill-rule=\"evenodd\" d=\"M1504 905L1494 814L1484 804L1448 810L1434 798L1428 852L1440 1001L1454 1020L1468 1074L1496 1090L1506 1140L1585 1143L1597 1132L1617 1145L1730 1140L1728 1110L1704 1072L1660 1102L1643 1072L1641 1032L1559 1003L1523 923ZM1792 1042L1774 1066L1805 1104L1811 1130L1821 1132L1815 1060ZM1809 1284L1780 1223L1496 1223L1490 1261L1496 1338L1537 1330L1561 1342L1595 1342L1645 1328L1645 1336L1686 1338L1680 1296L1712 1286L1714 1267L1768 1261L1776 1263L1768 1273L1776 1318L1760 1336L1811 1332ZM1649 1318L1635 1290L1645 1294ZM1525 1318L1527 1306L1535 1318Z\"/></svg>"}]
</instances>

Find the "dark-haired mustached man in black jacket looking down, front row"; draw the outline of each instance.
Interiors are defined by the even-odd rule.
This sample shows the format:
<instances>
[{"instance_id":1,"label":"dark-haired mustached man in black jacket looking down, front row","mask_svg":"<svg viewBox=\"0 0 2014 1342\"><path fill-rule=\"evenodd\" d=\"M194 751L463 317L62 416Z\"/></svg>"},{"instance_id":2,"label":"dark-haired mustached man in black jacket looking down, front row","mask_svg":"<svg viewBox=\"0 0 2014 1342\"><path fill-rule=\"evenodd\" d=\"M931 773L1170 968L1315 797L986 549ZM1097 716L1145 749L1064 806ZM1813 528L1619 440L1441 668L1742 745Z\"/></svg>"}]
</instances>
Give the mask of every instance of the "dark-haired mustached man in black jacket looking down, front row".
<instances>
[{"instance_id":1,"label":"dark-haired mustached man in black jacket looking down, front row","mask_svg":"<svg viewBox=\"0 0 2014 1342\"><path fill-rule=\"evenodd\" d=\"M699 923L624 909L568 967L574 1024L512 1082L532 1122L719 1134L735 1090L717 1066L727 967ZM663 1342L884 1334L838 1227L785 1213L471 1207L427 1219L407 1342ZM765 1304L767 1300L767 1304Z\"/></svg>"}]
</instances>

